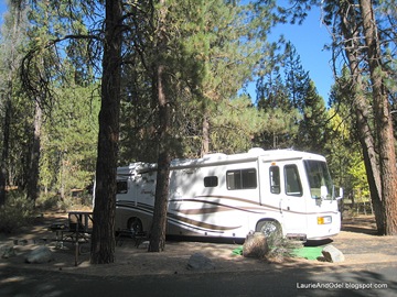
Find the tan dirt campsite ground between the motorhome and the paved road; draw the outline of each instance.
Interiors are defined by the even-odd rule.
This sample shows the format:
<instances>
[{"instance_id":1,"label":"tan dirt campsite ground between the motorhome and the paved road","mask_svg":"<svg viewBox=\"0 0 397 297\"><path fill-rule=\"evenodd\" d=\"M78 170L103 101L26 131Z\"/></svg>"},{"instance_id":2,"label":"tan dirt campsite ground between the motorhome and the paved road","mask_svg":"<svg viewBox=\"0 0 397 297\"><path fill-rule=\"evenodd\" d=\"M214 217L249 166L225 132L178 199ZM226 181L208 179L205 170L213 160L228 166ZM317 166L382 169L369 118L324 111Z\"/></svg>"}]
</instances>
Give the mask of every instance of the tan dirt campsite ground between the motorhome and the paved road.
<instances>
[{"instance_id":1,"label":"tan dirt campsite ground between the motorhome and the paved road","mask_svg":"<svg viewBox=\"0 0 397 297\"><path fill-rule=\"evenodd\" d=\"M189 258L194 253L202 253L210 257L216 272L266 271L275 266L313 265L320 267L365 267L373 263L385 265L397 264L397 237L378 237L375 232L373 217L357 217L343 221L341 233L321 244L333 244L345 255L343 263L325 263L305 258L286 258L280 262L246 258L233 254L233 250L240 244L208 243L189 241L169 241L165 251L148 253L144 242L137 248L131 239L124 239L116 248L116 262L100 266L89 264L89 248L83 246L82 254L76 257L75 248L65 244L56 249L51 239L55 234L49 231L54 222L66 222L66 216L61 213L45 213L43 218L21 230L17 234L0 234L0 248L14 245L15 256L0 258L0 268L7 265L18 267L34 267L45 271L63 271L88 275L153 275L153 274L189 274L194 273L186 268ZM43 239L47 239L44 241ZM25 254L39 245L46 244L53 252L53 261L45 264L29 264L24 262ZM314 244L310 242L309 244ZM315 243L319 244L319 243ZM77 263L77 265L76 265Z\"/></svg>"}]
</instances>

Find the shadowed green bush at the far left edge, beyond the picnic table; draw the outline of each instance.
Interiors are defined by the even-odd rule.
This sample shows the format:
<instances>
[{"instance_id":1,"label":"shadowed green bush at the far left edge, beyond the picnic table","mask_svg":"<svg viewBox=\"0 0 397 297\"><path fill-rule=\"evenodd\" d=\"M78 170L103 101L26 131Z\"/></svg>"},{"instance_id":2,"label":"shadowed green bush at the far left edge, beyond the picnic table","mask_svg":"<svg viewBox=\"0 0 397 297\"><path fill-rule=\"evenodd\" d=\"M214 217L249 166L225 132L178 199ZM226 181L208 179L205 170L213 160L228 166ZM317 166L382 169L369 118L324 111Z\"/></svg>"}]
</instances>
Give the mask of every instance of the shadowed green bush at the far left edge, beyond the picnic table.
<instances>
[{"instance_id":1,"label":"shadowed green bush at the far left edge, beyond the picnic table","mask_svg":"<svg viewBox=\"0 0 397 297\"><path fill-rule=\"evenodd\" d=\"M22 194L9 195L0 207L0 232L12 233L32 222L34 204Z\"/></svg>"}]
</instances>

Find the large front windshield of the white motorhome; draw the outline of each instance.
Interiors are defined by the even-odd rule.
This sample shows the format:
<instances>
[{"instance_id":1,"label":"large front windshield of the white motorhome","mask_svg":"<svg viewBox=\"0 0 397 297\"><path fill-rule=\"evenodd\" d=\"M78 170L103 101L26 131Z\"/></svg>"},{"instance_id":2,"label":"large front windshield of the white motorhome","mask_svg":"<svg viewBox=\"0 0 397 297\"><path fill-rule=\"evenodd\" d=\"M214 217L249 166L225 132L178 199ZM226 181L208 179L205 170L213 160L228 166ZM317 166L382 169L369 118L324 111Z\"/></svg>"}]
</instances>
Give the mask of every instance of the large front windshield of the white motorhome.
<instances>
[{"instance_id":1,"label":"large front windshield of the white motorhome","mask_svg":"<svg viewBox=\"0 0 397 297\"><path fill-rule=\"evenodd\" d=\"M332 179L325 162L305 160L304 168L308 174L310 194L313 199L331 200Z\"/></svg>"}]
</instances>

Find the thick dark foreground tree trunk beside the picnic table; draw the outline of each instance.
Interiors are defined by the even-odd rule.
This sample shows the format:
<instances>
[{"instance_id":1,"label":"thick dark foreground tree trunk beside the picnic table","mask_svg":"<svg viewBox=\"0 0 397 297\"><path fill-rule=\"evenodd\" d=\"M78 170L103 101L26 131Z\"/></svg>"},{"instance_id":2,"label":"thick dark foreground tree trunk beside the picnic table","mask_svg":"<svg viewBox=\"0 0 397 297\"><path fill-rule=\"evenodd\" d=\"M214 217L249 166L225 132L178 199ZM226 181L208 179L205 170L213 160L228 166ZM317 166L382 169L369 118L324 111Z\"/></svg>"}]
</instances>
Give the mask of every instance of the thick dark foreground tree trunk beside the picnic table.
<instances>
[{"instance_id":1,"label":"thick dark foreground tree trunk beside the picnic table","mask_svg":"<svg viewBox=\"0 0 397 297\"><path fill-rule=\"evenodd\" d=\"M115 262L117 146L121 78L121 0L106 1L98 156L90 263Z\"/></svg>"}]
</instances>

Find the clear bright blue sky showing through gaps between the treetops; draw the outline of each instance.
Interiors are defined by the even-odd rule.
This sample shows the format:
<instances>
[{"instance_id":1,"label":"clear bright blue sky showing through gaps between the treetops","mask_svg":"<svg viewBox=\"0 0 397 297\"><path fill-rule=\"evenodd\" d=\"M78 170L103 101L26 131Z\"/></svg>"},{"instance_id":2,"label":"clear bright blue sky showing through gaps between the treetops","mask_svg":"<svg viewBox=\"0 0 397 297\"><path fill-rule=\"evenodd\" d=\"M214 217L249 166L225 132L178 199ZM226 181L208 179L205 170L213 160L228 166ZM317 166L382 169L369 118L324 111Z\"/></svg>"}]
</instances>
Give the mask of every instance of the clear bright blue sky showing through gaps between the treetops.
<instances>
[{"instance_id":1,"label":"clear bright blue sky showing through gaps between the treetops","mask_svg":"<svg viewBox=\"0 0 397 297\"><path fill-rule=\"evenodd\" d=\"M6 9L6 0L0 0L0 24L2 23L2 14ZM293 44L297 53L300 55L303 69L309 72L319 95L326 102L334 80L330 65L331 52L323 51L323 47L326 43L331 42L331 36L326 28L321 24L320 18L320 10L313 9L309 12L302 25L279 25L275 30L273 38L277 40L279 34L283 34ZM255 84L248 87L248 92L253 99L256 98Z\"/></svg>"}]
</instances>

